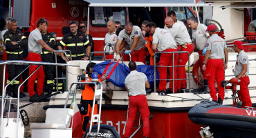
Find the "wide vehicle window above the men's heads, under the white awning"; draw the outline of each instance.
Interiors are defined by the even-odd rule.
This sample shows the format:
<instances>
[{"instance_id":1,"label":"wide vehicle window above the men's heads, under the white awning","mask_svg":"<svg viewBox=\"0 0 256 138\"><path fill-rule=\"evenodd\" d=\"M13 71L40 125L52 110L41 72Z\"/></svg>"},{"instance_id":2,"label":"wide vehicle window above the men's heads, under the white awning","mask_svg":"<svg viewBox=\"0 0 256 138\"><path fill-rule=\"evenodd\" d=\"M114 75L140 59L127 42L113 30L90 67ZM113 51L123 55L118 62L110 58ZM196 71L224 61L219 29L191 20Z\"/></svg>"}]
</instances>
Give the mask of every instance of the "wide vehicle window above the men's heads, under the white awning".
<instances>
[{"instance_id":1,"label":"wide vehicle window above the men's heads, under the white awning","mask_svg":"<svg viewBox=\"0 0 256 138\"><path fill-rule=\"evenodd\" d=\"M107 26L109 20L120 21L122 26L126 22L125 8L122 7L92 7L90 12L92 26Z\"/></svg>"}]
</instances>

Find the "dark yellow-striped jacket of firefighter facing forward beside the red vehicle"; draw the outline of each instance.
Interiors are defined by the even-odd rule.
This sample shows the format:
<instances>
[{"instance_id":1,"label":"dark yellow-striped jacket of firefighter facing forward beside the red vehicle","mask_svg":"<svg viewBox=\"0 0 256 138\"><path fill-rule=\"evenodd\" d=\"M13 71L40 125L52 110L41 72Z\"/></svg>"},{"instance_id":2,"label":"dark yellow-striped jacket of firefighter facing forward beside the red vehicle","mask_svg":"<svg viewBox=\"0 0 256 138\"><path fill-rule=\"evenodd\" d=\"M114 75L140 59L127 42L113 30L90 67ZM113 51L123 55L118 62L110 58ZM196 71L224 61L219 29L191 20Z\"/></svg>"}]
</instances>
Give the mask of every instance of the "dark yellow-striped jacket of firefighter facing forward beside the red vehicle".
<instances>
[{"instance_id":1,"label":"dark yellow-striped jacket of firefighter facing forward beside the red vehicle","mask_svg":"<svg viewBox=\"0 0 256 138\"><path fill-rule=\"evenodd\" d=\"M77 32L76 35L72 32L68 32L60 41L61 46L66 46L66 50L71 50L72 55L67 55L68 57L72 56L72 60L81 60L84 57L89 57L86 55L86 48L91 46L89 40L86 39L85 35L82 32Z\"/></svg>"}]
</instances>

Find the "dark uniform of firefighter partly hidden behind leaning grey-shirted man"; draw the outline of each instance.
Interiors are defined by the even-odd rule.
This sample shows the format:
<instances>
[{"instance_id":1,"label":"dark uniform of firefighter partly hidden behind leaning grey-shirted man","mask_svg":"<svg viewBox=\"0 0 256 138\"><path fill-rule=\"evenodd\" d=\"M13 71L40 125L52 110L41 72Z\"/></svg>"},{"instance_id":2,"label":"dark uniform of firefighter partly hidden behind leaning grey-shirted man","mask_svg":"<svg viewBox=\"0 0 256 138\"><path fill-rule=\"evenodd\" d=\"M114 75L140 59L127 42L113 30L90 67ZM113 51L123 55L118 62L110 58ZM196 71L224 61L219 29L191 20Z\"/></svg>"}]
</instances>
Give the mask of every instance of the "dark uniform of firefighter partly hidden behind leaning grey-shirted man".
<instances>
[{"instance_id":1,"label":"dark uniform of firefighter partly hidden behind leaning grey-shirted man","mask_svg":"<svg viewBox=\"0 0 256 138\"><path fill-rule=\"evenodd\" d=\"M43 41L54 49L55 39L53 34L47 32L46 34L42 34ZM55 63L55 60L53 59L53 52L50 52L46 49L42 49L41 52L41 58L44 62L50 62ZM54 66L44 66L44 74L45 74L45 80L44 80L44 88L48 90L48 95L51 95L51 92L53 91L53 87L55 84L54 81Z\"/></svg>"}]
</instances>

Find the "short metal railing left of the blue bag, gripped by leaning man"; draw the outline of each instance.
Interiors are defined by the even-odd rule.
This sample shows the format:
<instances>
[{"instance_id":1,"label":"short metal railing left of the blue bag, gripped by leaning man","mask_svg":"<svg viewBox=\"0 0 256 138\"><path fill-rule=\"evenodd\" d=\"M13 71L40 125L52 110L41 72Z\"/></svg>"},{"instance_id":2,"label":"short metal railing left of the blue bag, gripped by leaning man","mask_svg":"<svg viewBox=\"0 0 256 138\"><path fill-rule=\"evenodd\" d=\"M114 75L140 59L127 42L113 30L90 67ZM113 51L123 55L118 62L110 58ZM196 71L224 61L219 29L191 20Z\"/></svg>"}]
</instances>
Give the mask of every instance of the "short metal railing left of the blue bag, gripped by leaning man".
<instances>
[{"instance_id":1,"label":"short metal railing left of the blue bag, gripped by leaning man","mask_svg":"<svg viewBox=\"0 0 256 138\"><path fill-rule=\"evenodd\" d=\"M68 62L68 55L66 54L67 52L69 53L69 55L72 55L71 51L70 50L55 50L54 53L55 53L55 63L57 63L57 52L63 52L66 59L65 59L65 63ZM72 60L72 56L70 57L71 60ZM55 80L56 80L56 84L57 86L55 86L56 90L59 91L59 79L66 79L66 77L58 77L58 72L57 72L57 66L55 66Z\"/></svg>"}]
</instances>

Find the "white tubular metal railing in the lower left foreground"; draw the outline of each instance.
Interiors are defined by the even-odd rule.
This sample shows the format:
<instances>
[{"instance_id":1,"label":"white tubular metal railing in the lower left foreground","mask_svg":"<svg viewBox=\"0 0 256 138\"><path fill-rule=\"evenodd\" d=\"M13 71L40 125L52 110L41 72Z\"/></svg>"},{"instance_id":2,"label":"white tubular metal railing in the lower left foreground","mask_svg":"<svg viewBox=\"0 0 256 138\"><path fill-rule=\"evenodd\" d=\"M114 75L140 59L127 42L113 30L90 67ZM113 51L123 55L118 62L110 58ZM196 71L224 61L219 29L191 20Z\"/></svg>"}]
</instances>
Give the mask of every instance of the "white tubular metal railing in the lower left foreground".
<instances>
[{"instance_id":1,"label":"white tubular metal railing in the lower left foreground","mask_svg":"<svg viewBox=\"0 0 256 138\"><path fill-rule=\"evenodd\" d=\"M6 84L5 86L5 75L6 75L6 65L7 64L14 64L14 65L28 65L24 70L22 70L19 75L17 75L15 78L13 78L8 84ZM47 63L47 62L40 62L40 61L1 61L0 65L3 65L3 89L2 89L2 97L1 97L1 137L3 137L3 111L4 111L4 102L7 99L17 99L17 137L18 137L18 132L19 132L19 90L21 88L21 86L28 81L28 79L43 65L45 66L72 66L72 65L67 65L64 63ZM18 93L17 93L17 98L12 98L9 97L8 95L6 95L6 88L10 85L10 83L12 83L13 81L15 81L15 79L17 79L17 77L19 77L25 70L27 70L30 66L32 65L37 65L38 67L28 76L28 78L26 78L21 84L19 84L18 87ZM9 110L10 110L10 106L9 106ZM7 122L8 124L8 122Z\"/></svg>"}]
</instances>

